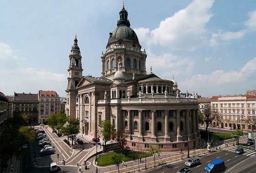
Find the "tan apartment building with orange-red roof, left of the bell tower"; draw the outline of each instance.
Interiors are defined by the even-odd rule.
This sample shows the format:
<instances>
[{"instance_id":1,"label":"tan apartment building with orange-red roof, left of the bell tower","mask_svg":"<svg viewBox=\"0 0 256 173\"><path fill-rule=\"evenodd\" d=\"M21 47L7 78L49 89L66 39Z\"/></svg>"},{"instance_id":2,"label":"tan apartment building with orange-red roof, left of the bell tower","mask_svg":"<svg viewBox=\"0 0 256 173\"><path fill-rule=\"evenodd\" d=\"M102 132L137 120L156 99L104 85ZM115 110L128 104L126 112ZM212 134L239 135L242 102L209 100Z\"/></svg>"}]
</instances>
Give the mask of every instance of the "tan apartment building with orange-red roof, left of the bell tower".
<instances>
[{"instance_id":1,"label":"tan apartment building with orange-red roof, left of the bell tower","mask_svg":"<svg viewBox=\"0 0 256 173\"><path fill-rule=\"evenodd\" d=\"M40 105L38 123L44 124L45 119L50 116L51 112L59 112L60 97L57 92L40 90L38 100Z\"/></svg>"}]
</instances>

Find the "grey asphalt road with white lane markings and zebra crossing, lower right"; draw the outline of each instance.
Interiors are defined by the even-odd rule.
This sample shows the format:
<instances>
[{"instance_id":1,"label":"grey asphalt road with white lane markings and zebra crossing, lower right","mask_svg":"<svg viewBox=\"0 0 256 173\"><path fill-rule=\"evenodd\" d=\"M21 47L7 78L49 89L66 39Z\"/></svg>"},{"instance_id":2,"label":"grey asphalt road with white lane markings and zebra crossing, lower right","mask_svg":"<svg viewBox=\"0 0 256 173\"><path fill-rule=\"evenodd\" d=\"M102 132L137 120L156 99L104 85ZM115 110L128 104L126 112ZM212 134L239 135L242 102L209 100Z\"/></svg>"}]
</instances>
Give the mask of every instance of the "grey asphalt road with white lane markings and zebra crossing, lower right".
<instances>
[{"instance_id":1,"label":"grey asphalt road with white lane markings and zebra crossing, lower right","mask_svg":"<svg viewBox=\"0 0 256 173\"><path fill-rule=\"evenodd\" d=\"M229 173L256 173L256 156L254 155L255 145L250 147L245 147L240 145L241 148L244 148L245 153L243 154L235 154L234 151L238 146L232 146L229 148L225 148L224 150L211 153L200 158L201 164L190 168L193 173L204 173L205 166L215 160L216 158L220 158L224 160L225 166ZM181 168L185 168L185 161L181 163L176 163L174 165L169 166L169 168L164 167L157 170L149 171L149 173L176 173Z\"/></svg>"}]
</instances>

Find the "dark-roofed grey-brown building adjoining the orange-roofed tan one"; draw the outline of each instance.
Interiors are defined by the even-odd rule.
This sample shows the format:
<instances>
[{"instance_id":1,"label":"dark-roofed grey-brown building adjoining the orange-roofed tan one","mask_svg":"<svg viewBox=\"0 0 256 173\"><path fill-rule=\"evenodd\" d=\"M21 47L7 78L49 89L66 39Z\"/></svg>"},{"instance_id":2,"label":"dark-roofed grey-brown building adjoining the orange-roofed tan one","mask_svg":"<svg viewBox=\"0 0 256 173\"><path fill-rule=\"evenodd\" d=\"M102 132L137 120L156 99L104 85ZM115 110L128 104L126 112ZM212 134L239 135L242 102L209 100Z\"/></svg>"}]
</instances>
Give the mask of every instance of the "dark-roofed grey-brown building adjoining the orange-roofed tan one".
<instances>
[{"instance_id":1,"label":"dark-roofed grey-brown building adjoining the orange-roofed tan one","mask_svg":"<svg viewBox=\"0 0 256 173\"><path fill-rule=\"evenodd\" d=\"M13 116L26 114L28 124L37 124L38 119L38 95L31 93L16 93L14 92L13 99Z\"/></svg>"}]
</instances>

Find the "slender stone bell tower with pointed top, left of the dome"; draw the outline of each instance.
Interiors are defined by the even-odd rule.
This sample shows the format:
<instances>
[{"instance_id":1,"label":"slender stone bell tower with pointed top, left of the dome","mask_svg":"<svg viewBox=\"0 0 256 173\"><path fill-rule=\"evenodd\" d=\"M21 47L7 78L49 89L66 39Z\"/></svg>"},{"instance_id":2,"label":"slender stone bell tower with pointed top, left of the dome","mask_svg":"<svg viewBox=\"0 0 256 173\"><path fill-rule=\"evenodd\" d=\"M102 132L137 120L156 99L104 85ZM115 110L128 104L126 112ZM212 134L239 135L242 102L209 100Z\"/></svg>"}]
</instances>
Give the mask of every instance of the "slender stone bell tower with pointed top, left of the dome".
<instances>
[{"instance_id":1,"label":"slender stone bell tower with pointed top, left of the dome","mask_svg":"<svg viewBox=\"0 0 256 173\"><path fill-rule=\"evenodd\" d=\"M75 35L74 45L71 48L71 53L69 55L69 68L68 68L68 83L67 89L67 108L66 115L75 118L75 104L77 97L76 86L80 79L82 78L82 56L80 48L77 44L77 38Z\"/></svg>"}]
</instances>

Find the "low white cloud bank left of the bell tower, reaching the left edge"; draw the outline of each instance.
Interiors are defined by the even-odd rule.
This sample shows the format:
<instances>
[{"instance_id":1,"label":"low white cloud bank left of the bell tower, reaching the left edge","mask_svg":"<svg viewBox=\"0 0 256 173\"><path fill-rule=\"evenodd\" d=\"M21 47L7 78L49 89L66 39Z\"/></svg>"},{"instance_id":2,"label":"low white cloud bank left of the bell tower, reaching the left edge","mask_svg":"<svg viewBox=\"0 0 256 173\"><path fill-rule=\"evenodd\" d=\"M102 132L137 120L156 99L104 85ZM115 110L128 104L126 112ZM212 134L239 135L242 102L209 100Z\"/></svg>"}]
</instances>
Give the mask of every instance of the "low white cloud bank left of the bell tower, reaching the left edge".
<instances>
[{"instance_id":1,"label":"low white cloud bank left of the bell tower, reaching the left edge","mask_svg":"<svg viewBox=\"0 0 256 173\"><path fill-rule=\"evenodd\" d=\"M0 61L0 90L5 95L13 95L14 92L37 93L38 90L54 90L65 96L66 75L25 67L23 64L26 64L26 59L16 56L15 51L5 43L0 43Z\"/></svg>"}]
</instances>

